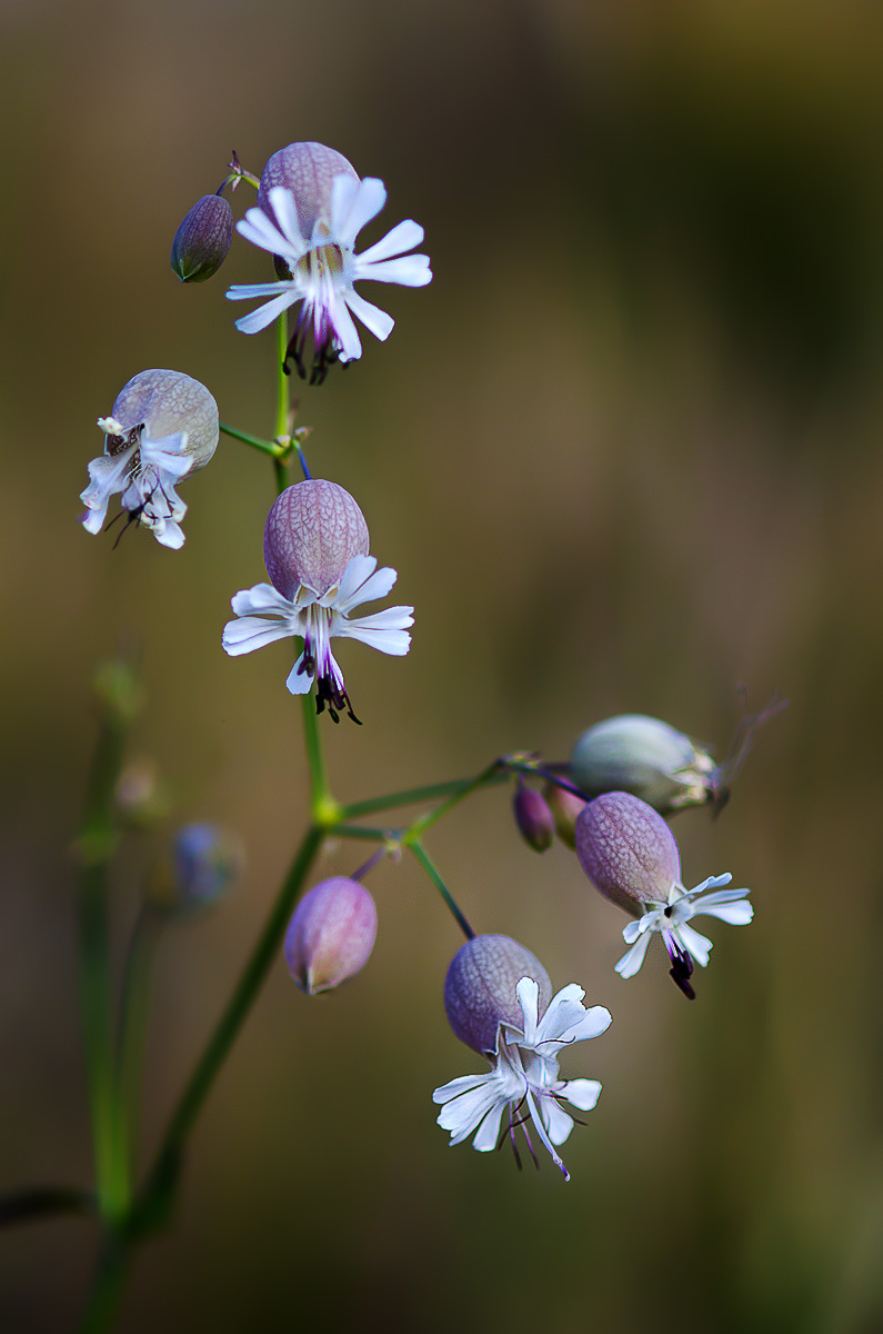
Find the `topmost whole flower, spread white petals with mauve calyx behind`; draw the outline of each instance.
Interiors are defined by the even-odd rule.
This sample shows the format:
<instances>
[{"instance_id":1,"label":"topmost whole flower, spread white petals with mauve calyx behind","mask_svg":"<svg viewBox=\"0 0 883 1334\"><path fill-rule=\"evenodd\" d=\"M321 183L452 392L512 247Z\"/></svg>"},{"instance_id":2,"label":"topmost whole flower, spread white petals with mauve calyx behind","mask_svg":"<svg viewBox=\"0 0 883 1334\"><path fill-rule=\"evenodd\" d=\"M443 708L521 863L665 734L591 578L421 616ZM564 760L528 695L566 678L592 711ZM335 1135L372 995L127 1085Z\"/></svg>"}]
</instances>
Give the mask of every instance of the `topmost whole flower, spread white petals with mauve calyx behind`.
<instances>
[{"instance_id":1,"label":"topmost whole flower, spread white petals with mauve calyx behind","mask_svg":"<svg viewBox=\"0 0 883 1334\"><path fill-rule=\"evenodd\" d=\"M412 220L399 223L383 240L356 255L356 236L385 199L381 180L360 180L335 149L317 143L289 144L267 163L257 207L236 224L245 240L273 255L279 273L276 283L229 288L232 301L267 299L236 320L236 328L257 334L301 301L285 366L292 358L299 375L307 378L304 347L312 329L311 384L320 384L335 362L361 356L353 315L380 340L392 332L392 317L360 296L355 283L424 287L432 279L427 255L405 253L423 240L423 228Z\"/></svg>"}]
</instances>

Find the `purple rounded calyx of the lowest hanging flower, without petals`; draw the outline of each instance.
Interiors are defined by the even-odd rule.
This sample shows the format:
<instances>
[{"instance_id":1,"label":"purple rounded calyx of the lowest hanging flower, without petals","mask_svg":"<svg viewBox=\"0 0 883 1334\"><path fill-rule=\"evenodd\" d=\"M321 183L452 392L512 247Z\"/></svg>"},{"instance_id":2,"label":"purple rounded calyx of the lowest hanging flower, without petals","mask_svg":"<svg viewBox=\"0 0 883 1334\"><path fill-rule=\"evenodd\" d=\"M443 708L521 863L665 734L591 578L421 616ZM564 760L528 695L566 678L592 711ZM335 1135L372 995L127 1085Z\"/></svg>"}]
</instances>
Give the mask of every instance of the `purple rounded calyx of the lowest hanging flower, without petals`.
<instances>
[{"instance_id":1,"label":"purple rounded calyx of the lowest hanging flower, without petals","mask_svg":"<svg viewBox=\"0 0 883 1334\"><path fill-rule=\"evenodd\" d=\"M552 999L548 972L530 950L508 935L476 935L451 960L444 979L444 1013L454 1033L474 1051L494 1053L502 1023L522 1030L524 1015L515 988L534 978L539 1014Z\"/></svg>"}]
</instances>

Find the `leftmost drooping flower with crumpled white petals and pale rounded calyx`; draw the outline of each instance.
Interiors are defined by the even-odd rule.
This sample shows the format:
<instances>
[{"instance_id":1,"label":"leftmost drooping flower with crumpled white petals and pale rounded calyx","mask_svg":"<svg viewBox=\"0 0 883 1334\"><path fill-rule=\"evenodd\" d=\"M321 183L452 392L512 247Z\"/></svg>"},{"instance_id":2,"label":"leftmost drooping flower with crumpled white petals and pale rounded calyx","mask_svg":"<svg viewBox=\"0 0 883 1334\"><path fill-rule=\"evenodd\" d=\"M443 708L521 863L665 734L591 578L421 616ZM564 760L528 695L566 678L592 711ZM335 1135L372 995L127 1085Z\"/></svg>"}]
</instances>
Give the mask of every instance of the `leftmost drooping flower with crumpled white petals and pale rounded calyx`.
<instances>
[{"instance_id":1,"label":"leftmost drooping flower with crumpled white petals and pale rounded calyx","mask_svg":"<svg viewBox=\"0 0 883 1334\"><path fill-rule=\"evenodd\" d=\"M87 532L101 531L108 502L119 491L128 523L149 528L163 547L181 547L187 506L175 487L204 468L217 447L212 395L180 371L141 371L99 426L104 454L89 463L89 486L80 495Z\"/></svg>"}]
</instances>

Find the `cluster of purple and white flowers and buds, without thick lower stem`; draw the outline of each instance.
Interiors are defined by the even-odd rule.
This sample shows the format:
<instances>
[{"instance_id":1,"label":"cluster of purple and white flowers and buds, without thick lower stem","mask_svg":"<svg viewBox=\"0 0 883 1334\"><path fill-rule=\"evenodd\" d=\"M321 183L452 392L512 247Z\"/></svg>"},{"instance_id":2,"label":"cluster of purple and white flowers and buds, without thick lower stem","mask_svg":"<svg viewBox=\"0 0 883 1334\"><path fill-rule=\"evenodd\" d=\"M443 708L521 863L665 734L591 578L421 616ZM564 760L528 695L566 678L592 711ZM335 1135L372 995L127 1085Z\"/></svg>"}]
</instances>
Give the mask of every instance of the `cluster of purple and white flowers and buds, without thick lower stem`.
<instances>
[{"instance_id":1,"label":"cluster of purple and white flowers and buds, without thick lower stem","mask_svg":"<svg viewBox=\"0 0 883 1334\"><path fill-rule=\"evenodd\" d=\"M385 187L376 177L360 177L341 153L323 144L281 148L269 157L260 180L244 172L236 157L231 168L232 175L219 191L197 200L180 224L172 244L172 269L183 283L212 277L227 260L233 231L272 256L275 281L235 284L227 291L232 301L261 303L237 319L236 327L257 334L279 320L281 370L288 374L292 362L301 379L320 384L335 363L361 356L356 320L379 340L392 331L392 317L356 292L357 283L423 287L431 281L428 256L415 253L423 228L407 219L357 253L356 240L383 208ZM229 184L235 189L243 179L257 187L257 199L233 228L224 188ZM288 339L285 320L292 307L299 309ZM221 643L235 658L275 640L297 639L288 691L307 696L315 688L317 714L327 710L337 723L345 712L357 723L332 639L357 639L383 654L403 656L411 646L413 608L395 606L353 615L387 598L397 575L389 567L379 568L377 559L369 555L368 526L353 496L336 482L311 476L299 446L303 428L293 431L293 414L289 420L288 382L279 376L279 383L277 420L288 434L261 442L221 427L215 399L191 376L159 370L136 375L119 394L111 415L99 419L104 452L88 464L83 523L88 532L97 534L105 526L111 496L119 494L125 527L144 527L161 546L181 547L187 506L176 487L209 462L220 430L272 455L277 478L297 451L305 479L281 490L264 526L269 582L233 595L233 619L224 626ZM520 755L499 760L487 771L495 778L508 764L518 775L512 806L527 844L547 852L558 838L576 851L599 894L630 915L623 930L628 950L615 964L620 976L639 971L651 936L659 934L671 976L684 995L695 999L694 967L708 963L712 944L691 924L692 919L704 914L734 926L751 920L748 890L724 888L730 874L710 876L692 890L684 887L680 852L664 816L700 804L719 810L727 796L723 776L735 772L754 731L778 707L774 703L758 718L746 716L734 758L724 766L715 766L706 748L667 723L626 714L588 728L576 742L570 764L544 770L536 756ZM309 714L307 723L309 728L316 726ZM311 744L316 794L324 779L315 734ZM487 774L467 783L451 800L480 786ZM538 779L544 782L542 791L530 786ZM417 792L423 800L427 790ZM428 822L417 818L404 831L353 830L343 822L344 808L336 807L327 792L323 795L325 808L313 810L308 835L313 847L336 827L341 834L376 839L379 850L351 876L324 879L301 898L284 946L295 982L312 996L360 972L377 930L376 904L361 876L387 852L409 846L467 935L444 983L450 1026L490 1063L482 1074L451 1079L435 1090L437 1123L450 1133L451 1145L471 1138L479 1151L508 1138L519 1166L520 1130L534 1162L531 1137L570 1179L558 1153L575 1123L568 1109L592 1110L602 1086L596 1079L563 1078L559 1057L570 1046L603 1034L611 1023L608 1010L587 1009L586 991L576 983L552 994L546 968L530 950L504 935L471 931L417 842L437 812ZM385 804L356 803L345 815L357 818L365 808L391 808L401 795ZM223 895L241 866L235 838L211 824L187 826L176 840L173 866L161 883L157 879L156 903L169 912L204 908ZM295 878L293 883L300 882ZM284 896L281 902L289 900ZM277 923L276 911L271 924ZM277 930L281 934L280 924Z\"/></svg>"}]
</instances>

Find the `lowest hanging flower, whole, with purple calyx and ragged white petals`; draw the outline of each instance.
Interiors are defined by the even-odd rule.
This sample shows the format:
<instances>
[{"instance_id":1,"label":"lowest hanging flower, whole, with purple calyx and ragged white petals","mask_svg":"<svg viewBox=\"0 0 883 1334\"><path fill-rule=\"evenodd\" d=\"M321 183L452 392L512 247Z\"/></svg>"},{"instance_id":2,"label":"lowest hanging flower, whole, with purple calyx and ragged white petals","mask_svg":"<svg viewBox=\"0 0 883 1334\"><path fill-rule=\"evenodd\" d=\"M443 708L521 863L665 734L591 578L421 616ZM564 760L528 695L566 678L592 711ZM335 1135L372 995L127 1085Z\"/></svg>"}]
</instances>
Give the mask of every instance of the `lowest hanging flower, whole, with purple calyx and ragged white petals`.
<instances>
[{"instance_id":1,"label":"lowest hanging flower, whole, with purple calyx and ragged white petals","mask_svg":"<svg viewBox=\"0 0 883 1334\"><path fill-rule=\"evenodd\" d=\"M514 982L514 972L522 967L530 971ZM491 1061L491 1070L452 1079L435 1090L432 1101L442 1106L437 1123L451 1131L451 1145L462 1143L475 1131L472 1145L482 1153L496 1147L503 1114L508 1113L508 1137L516 1161L518 1126L524 1127L535 1158L531 1122L570 1181L556 1153L574 1129L574 1118L563 1103L591 1111L602 1086L596 1079L562 1079L558 1054L574 1042L604 1033L611 1017L603 1006L586 1010L582 1005L586 992L576 983L563 987L547 1005L550 990L546 970L518 942L499 935L468 940L448 970L446 1009L459 1038L472 1047L483 1043L479 1050ZM495 1030L492 1051L487 1047L491 1030Z\"/></svg>"}]
</instances>

